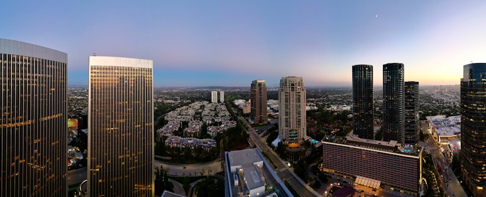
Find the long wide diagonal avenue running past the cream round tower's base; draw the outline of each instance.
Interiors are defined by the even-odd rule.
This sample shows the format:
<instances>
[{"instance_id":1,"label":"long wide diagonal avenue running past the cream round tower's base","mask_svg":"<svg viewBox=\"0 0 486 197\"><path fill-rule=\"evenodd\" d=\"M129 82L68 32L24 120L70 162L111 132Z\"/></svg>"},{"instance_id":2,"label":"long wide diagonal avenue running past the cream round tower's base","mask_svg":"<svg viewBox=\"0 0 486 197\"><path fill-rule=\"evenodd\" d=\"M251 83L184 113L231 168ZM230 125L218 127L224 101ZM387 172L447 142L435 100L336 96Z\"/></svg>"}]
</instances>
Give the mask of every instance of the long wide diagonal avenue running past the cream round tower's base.
<instances>
[{"instance_id":1,"label":"long wide diagonal avenue running past the cream round tower's base","mask_svg":"<svg viewBox=\"0 0 486 197\"><path fill-rule=\"evenodd\" d=\"M317 192L315 192L309 185L305 184L300 178L294 174L292 169L288 168L288 165L285 164L280 157L278 157L277 153L275 153L271 148L268 148L266 143L260 138L257 132L243 119L241 116L238 117L240 121L248 126L249 131L248 134L250 135L250 140L256 147L260 150L260 152L264 152L267 154L270 160L277 165L277 172L278 177L283 181L287 180L290 186L297 192L297 194L301 197L312 197L312 196L321 196Z\"/></svg>"}]
</instances>

